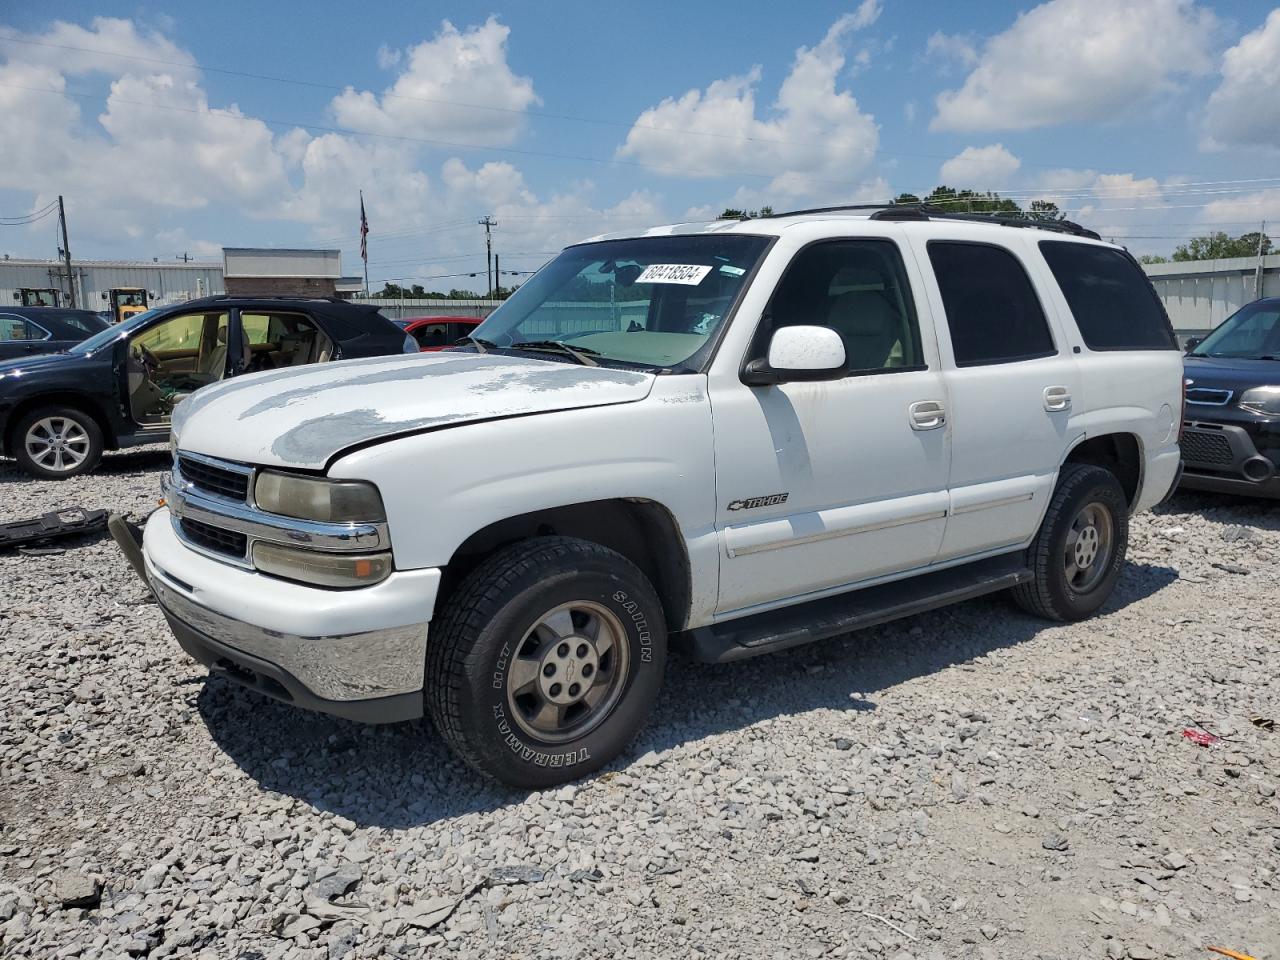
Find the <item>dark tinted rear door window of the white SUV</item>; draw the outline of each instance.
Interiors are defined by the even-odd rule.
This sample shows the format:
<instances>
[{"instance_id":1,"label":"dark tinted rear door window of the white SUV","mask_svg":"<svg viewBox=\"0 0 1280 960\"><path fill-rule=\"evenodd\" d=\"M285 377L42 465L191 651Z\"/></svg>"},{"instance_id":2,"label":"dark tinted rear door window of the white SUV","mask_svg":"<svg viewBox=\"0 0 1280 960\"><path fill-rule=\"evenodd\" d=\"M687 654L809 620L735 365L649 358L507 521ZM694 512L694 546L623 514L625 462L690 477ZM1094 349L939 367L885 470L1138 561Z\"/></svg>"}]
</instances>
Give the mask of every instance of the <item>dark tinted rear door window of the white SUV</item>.
<instances>
[{"instance_id":1,"label":"dark tinted rear door window of the white SUV","mask_svg":"<svg viewBox=\"0 0 1280 960\"><path fill-rule=\"evenodd\" d=\"M956 366L1011 364L1056 353L1030 278L1012 253L989 243L931 241Z\"/></svg>"}]
</instances>

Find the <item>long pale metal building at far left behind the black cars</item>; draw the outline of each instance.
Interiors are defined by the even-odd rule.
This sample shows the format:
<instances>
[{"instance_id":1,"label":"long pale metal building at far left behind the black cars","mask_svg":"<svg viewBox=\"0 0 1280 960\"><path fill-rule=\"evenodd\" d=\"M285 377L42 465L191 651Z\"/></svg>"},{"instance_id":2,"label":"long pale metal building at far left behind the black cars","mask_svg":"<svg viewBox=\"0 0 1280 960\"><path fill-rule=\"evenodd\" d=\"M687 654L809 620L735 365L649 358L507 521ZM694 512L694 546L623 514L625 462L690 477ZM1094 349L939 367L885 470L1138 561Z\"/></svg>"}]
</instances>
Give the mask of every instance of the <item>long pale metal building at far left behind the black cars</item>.
<instances>
[{"instance_id":1,"label":"long pale metal building at far left behind the black cars","mask_svg":"<svg viewBox=\"0 0 1280 960\"><path fill-rule=\"evenodd\" d=\"M145 260L72 260L72 284L67 268L56 260L0 260L0 306L22 302L22 292L56 291L58 305L69 306L70 288L76 306L105 310L106 292L141 287L152 306L180 303L195 297L224 292L223 265L218 262L160 262Z\"/></svg>"}]
</instances>

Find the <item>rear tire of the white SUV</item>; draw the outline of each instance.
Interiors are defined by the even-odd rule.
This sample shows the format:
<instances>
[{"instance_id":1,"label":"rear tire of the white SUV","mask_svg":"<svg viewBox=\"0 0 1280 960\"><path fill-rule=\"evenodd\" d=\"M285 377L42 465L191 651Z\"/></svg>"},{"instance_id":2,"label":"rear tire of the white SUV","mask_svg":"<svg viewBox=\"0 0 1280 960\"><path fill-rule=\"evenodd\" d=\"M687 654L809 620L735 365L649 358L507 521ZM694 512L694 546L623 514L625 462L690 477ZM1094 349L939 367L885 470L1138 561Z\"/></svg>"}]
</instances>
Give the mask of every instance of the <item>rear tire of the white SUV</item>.
<instances>
[{"instance_id":1,"label":"rear tire of the white SUV","mask_svg":"<svg viewBox=\"0 0 1280 960\"><path fill-rule=\"evenodd\" d=\"M1080 589L1068 561L1074 550L1073 525L1092 512L1110 520L1110 545L1106 556L1094 554L1100 564L1091 571L1092 581ZM1101 524L1096 524L1101 529ZM1089 463L1066 463L1059 472L1057 486L1044 521L1027 550L1033 579L1014 588L1014 599L1028 613L1048 620L1076 621L1093 616L1115 589L1129 549L1129 503L1115 474ZM1075 576L1084 572L1076 568Z\"/></svg>"}]
</instances>

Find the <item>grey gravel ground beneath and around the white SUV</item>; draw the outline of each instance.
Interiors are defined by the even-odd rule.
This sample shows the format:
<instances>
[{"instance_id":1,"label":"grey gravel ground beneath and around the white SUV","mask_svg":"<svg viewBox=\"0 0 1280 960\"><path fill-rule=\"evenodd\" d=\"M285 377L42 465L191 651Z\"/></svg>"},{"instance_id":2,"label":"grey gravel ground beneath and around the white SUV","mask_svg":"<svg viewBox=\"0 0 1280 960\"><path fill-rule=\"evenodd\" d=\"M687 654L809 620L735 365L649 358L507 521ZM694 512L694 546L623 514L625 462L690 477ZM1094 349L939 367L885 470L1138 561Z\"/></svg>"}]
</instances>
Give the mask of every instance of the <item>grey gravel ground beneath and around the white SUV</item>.
<instances>
[{"instance_id":1,"label":"grey gravel ground beneath and around the white SUV","mask_svg":"<svg viewBox=\"0 0 1280 960\"><path fill-rule=\"evenodd\" d=\"M141 515L166 461L0 463L0 512ZM1183 495L1105 616L677 657L623 760L527 795L206 681L109 540L0 554L0 955L1280 957L1277 561L1276 507Z\"/></svg>"}]
</instances>

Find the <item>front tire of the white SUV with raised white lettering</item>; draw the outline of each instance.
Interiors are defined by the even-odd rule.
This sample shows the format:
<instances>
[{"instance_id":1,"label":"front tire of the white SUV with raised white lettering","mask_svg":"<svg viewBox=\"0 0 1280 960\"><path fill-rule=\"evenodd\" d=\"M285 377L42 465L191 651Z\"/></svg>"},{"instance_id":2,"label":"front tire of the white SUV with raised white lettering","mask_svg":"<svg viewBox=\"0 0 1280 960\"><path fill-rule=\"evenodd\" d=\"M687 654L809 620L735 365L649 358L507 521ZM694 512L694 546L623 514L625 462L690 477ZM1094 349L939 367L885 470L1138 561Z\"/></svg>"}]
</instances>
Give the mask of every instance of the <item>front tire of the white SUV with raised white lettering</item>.
<instances>
[{"instance_id":1,"label":"front tire of the white SUV with raised white lettering","mask_svg":"<svg viewBox=\"0 0 1280 960\"><path fill-rule=\"evenodd\" d=\"M608 628L620 637L611 645L613 653L603 655L614 658L616 673L604 681L609 684L604 694L596 691L603 696L598 705L581 701L588 709L581 723L594 726L573 735L566 722L558 736L568 739L554 740L529 728L532 719L524 704L548 705L543 677L552 675L544 671L549 666L554 675L557 666L548 658L554 655L552 648L567 646L558 639L541 639L544 634L538 631L547 630L548 614L566 609L573 632L589 632L591 614L575 604L596 611L605 625L598 630ZM530 655L530 649L543 659ZM620 666L622 657L625 667ZM593 690L609 676L604 658L590 668ZM544 664L526 687L518 686L517 659ZM436 730L474 769L513 787L545 787L599 769L622 753L649 716L666 662L662 603L644 573L598 544L543 536L498 550L448 600L429 634L424 692ZM581 663L561 666L567 671L561 676L572 678L572 669L580 678L588 676ZM516 689L534 692L521 699ZM577 709L577 704L566 709Z\"/></svg>"}]
</instances>

